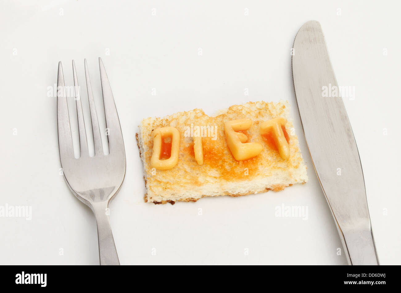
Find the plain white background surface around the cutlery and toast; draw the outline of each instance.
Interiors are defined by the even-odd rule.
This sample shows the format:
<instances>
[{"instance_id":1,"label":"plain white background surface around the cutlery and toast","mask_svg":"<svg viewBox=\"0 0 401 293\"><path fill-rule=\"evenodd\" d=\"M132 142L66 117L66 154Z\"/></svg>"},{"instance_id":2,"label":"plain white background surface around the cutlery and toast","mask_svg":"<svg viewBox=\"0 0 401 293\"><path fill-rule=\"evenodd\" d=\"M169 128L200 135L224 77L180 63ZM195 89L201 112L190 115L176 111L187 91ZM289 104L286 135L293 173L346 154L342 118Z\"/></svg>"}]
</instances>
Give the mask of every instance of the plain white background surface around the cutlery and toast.
<instances>
[{"instance_id":1,"label":"plain white background surface around the cutlery and toast","mask_svg":"<svg viewBox=\"0 0 401 293\"><path fill-rule=\"evenodd\" d=\"M57 83L59 61L73 85L74 59L89 118L87 58L104 127L101 57L126 147L126 178L110 205L121 264L346 264L344 253L336 254L341 243L308 154L292 83L296 32L318 20L339 85L356 90L355 100L344 102L379 259L401 264L399 9L396 1L2 1L0 205L31 206L32 220L0 218L0 263L99 263L95 217L59 175L56 99L47 87ZM196 203L144 203L135 140L143 118L194 108L212 115L249 100L281 99L292 105L306 185ZM74 102L69 106L76 119ZM308 206L308 219L275 217L282 204Z\"/></svg>"}]
</instances>

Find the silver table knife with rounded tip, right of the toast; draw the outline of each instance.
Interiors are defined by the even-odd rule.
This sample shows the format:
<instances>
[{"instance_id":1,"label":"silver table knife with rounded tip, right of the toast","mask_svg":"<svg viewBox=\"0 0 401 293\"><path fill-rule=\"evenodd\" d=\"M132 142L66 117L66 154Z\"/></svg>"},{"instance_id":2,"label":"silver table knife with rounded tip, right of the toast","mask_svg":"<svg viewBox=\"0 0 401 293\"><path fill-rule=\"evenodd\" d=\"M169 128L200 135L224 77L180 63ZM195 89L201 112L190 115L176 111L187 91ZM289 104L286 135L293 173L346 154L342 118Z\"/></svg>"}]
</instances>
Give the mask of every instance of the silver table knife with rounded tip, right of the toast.
<instances>
[{"instance_id":1,"label":"silver table knife with rounded tip, right of the toast","mask_svg":"<svg viewBox=\"0 0 401 293\"><path fill-rule=\"evenodd\" d=\"M292 76L306 143L348 264L379 265L358 149L317 21L295 37ZM329 87L337 90L328 95Z\"/></svg>"}]
</instances>

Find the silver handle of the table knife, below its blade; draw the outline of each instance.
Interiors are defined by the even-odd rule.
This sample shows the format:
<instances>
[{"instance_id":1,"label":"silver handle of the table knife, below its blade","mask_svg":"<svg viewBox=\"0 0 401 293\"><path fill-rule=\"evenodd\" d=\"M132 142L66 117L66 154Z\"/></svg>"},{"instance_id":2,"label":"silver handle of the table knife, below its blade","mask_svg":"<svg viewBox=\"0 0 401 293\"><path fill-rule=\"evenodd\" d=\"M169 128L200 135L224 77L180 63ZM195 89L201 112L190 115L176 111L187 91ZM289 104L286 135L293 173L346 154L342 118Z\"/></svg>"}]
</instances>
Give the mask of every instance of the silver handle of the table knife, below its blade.
<instances>
[{"instance_id":1,"label":"silver handle of the table knife, below its blade","mask_svg":"<svg viewBox=\"0 0 401 293\"><path fill-rule=\"evenodd\" d=\"M349 265L379 265L370 220L369 227L343 230L337 227Z\"/></svg>"}]
</instances>

